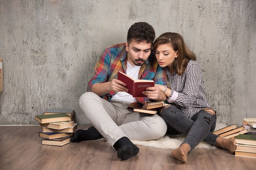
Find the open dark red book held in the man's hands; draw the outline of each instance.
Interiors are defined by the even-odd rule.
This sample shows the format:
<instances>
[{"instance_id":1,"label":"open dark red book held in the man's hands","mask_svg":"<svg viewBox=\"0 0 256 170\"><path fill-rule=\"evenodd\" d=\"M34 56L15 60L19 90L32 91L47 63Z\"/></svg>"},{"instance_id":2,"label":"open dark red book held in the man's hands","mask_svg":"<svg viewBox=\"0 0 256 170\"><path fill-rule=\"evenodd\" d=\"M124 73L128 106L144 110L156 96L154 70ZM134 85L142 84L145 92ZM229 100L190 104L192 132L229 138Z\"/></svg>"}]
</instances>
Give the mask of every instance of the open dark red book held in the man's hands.
<instances>
[{"instance_id":1,"label":"open dark red book held in the man's hands","mask_svg":"<svg viewBox=\"0 0 256 170\"><path fill-rule=\"evenodd\" d=\"M123 72L118 72L117 79L126 83L128 93L133 97L146 97L142 94L147 87L154 87L155 82L153 80L134 80L132 77L126 75Z\"/></svg>"}]
</instances>

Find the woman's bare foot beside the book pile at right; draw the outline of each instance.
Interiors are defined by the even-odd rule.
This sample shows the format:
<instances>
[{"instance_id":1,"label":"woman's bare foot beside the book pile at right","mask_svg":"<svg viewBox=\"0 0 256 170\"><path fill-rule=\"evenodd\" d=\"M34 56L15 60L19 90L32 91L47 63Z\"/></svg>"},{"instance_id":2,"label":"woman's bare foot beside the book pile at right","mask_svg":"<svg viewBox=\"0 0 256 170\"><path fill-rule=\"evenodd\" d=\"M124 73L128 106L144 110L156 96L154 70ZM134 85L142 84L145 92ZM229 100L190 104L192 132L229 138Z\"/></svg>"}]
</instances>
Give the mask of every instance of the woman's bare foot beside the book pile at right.
<instances>
[{"instance_id":1,"label":"woman's bare foot beside the book pile at right","mask_svg":"<svg viewBox=\"0 0 256 170\"><path fill-rule=\"evenodd\" d=\"M216 139L215 146L229 150L229 152L234 153L236 150L236 141L234 139L225 139L223 137L218 137Z\"/></svg>"}]
</instances>

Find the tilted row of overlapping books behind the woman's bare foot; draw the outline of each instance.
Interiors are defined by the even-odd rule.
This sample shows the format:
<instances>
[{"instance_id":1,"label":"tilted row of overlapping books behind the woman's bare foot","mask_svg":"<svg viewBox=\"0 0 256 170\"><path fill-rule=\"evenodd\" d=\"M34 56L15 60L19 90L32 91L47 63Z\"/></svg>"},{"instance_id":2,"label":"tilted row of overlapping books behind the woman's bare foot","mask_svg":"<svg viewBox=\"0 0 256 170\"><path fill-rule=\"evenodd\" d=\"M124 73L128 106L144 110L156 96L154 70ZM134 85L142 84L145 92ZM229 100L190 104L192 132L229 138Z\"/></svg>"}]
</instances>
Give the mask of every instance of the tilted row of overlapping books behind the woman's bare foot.
<instances>
[{"instance_id":1,"label":"tilted row of overlapping books behind the woman's bare foot","mask_svg":"<svg viewBox=\"0 0 256 170\"><path fill-rule=\"evenodd\" d=\"M244 126L238 127L236 124L232 124L217 131L214 131L213 133L225 139L231 139L238 136L239 134L248 133L248 130L245 129Z\"/></svg>"}]
</instances>

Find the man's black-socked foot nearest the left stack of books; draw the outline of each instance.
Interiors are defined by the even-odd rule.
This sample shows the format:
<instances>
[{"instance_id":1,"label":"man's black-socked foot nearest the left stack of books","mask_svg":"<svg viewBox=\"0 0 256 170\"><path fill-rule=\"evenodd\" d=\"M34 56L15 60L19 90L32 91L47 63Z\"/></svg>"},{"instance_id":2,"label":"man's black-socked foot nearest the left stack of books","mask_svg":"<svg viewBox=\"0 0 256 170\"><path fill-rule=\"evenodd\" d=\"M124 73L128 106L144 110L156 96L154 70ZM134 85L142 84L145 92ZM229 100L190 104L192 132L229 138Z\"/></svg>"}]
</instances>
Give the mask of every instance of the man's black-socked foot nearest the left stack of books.
<instances>
[{"instance_id":1,"label":"man's black-socked foot nearest the left stack of books","mask_svg":"<svg viewBox=\"0 0 256 170\"><path fill-rule=\"evenodd\" d=\"M87 130L79 129L76 131L74 136L71 138L71 142L80 142L83 140L96 140L103 137L94 126L91 126Z\"/></svg>"}]
</instances>

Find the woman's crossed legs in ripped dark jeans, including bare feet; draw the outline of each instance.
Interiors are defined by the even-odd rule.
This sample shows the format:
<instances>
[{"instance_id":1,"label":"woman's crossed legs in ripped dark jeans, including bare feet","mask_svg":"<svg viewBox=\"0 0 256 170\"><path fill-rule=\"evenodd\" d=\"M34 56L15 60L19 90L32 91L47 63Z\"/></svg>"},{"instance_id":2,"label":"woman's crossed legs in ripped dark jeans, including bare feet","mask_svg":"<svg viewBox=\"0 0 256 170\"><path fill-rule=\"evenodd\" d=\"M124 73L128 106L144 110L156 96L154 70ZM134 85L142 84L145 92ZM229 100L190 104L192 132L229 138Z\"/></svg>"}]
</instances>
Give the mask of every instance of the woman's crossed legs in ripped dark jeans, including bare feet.
<instances>
[{"instance_id":1,"label":"woman's crossed legs in ripped dark jeans, including bare feet","mask_svg":"<svg viewBox=\"0 0 256 170\"><path fill-rule=\"evenodd\" d=\"M187 161L188 153L202 141L227 149L231 153L236 149L236 142L233 139L224 139L212 133L215 129L216 116L215 111L210 108L201 110L190 119L176 107L167 106L162 110L161 116L168 125L187 135L180 147L172 152L172 156L183 163Z\"/></svg>"}]
</instances>

